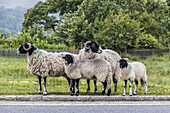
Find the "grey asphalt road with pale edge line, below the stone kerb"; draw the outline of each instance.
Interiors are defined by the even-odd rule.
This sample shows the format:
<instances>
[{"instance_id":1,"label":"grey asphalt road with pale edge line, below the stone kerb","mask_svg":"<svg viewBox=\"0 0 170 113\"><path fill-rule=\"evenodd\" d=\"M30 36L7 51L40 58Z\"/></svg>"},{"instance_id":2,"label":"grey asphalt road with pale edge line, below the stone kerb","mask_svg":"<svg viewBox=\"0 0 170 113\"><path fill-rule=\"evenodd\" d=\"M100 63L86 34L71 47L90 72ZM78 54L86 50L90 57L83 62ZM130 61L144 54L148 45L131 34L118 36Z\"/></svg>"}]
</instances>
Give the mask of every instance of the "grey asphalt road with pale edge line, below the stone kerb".
<instances>
[{"instance_id":1,"label":"grey asphalt road with pale edge line, below the stone kerb","mask_svg":"<svg viewBox=\"0 0 170 113\"><path fill-rule=\"evenodd\" d=\"M170 113L170 102L1 101L0 113Z\"/></svg>"}]
</instances>

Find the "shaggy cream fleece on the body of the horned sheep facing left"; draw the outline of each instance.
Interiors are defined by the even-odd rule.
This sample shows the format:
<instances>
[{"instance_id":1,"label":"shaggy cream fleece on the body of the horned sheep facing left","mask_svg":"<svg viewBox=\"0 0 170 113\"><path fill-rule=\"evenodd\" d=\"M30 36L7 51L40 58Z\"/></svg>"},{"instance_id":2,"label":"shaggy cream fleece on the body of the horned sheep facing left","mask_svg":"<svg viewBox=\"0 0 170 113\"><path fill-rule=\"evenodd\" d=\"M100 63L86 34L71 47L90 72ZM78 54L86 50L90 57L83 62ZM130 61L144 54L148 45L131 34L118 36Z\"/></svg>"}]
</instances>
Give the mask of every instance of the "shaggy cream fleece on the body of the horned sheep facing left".
<instances>
[{"instance_id":1,"label":"shaggy cream fleece on the body of the horned sheep facing left","mask_svg":"<svg viewBox=\"0 0 170 113\"><path fill-rule=\"evenodd\" d=\"M28 69L35 76L59 77L66 76L64 72L64 57L67 52L52 53L44 50L35 50L32 55L27 55Z\"/></svg>"}]
</instances>

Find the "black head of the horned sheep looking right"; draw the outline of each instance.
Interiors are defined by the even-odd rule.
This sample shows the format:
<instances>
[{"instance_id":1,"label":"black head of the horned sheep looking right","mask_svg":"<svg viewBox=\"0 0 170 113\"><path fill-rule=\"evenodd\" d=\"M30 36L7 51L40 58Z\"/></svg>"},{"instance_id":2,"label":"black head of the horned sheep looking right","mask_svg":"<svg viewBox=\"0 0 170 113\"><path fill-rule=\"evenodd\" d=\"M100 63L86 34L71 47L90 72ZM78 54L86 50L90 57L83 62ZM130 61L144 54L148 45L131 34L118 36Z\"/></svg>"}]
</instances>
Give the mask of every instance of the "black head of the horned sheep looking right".
<instances>
[{"instance_id":1,"label":"black head of the horned sheep looking right","mask_svg":"<svg viewBox=\"0 0 170 113\"><path fill-rule=\"evenodd\" d=\"M87 41L84 43L84 48L87 52L90 50L94 53L102 53L101 47L95 41Z\"/></svg>"}]
</instances>

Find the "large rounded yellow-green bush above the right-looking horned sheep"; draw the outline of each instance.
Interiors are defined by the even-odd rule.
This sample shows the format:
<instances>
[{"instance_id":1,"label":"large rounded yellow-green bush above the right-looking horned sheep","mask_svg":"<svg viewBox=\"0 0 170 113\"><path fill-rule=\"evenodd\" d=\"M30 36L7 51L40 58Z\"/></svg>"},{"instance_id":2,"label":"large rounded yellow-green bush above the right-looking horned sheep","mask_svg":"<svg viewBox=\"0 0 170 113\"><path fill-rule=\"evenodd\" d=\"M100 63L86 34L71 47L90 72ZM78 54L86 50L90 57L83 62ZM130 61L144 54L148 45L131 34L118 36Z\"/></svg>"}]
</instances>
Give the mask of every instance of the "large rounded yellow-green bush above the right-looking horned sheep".
<instances>
[{"instance_id":1,"label":"large rounded yellow-green bush above the right-looking horned sheep","mask_svg":"<svg viewBox=\"0 0 170 113\"><path fill-rule=\"evenodd\" d=\"M114 11L110 11L106 19L99 23L99 29L93 35L102 47L122 51L134 48L141 30L140 22L131 19L129 14L120 11L114 15Z\"/></svg>"}]
</instances>

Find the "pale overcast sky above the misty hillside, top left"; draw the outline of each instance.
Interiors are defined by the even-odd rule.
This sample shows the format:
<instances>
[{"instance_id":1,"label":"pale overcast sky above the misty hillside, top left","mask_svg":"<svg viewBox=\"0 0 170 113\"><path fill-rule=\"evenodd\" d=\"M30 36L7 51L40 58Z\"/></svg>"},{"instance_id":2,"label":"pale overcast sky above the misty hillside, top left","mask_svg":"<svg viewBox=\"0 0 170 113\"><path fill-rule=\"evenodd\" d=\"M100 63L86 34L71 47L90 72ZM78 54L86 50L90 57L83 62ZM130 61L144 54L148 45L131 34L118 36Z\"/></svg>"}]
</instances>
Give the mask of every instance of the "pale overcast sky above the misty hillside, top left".
<instances>
[{"instance_id":1,"label":"pale overcast sky above the misty hillside, top left","mask_svg":"<svg viewBox=\"0 0 170 113\"><path fill-rule=\"evenodd\" d=\"M45 0L0 0L0 6L5 6L6 8L15 8L17 6L22 6L24 8L31 8L38 1L45 1Z\"/></svg>"}]
</instances>

